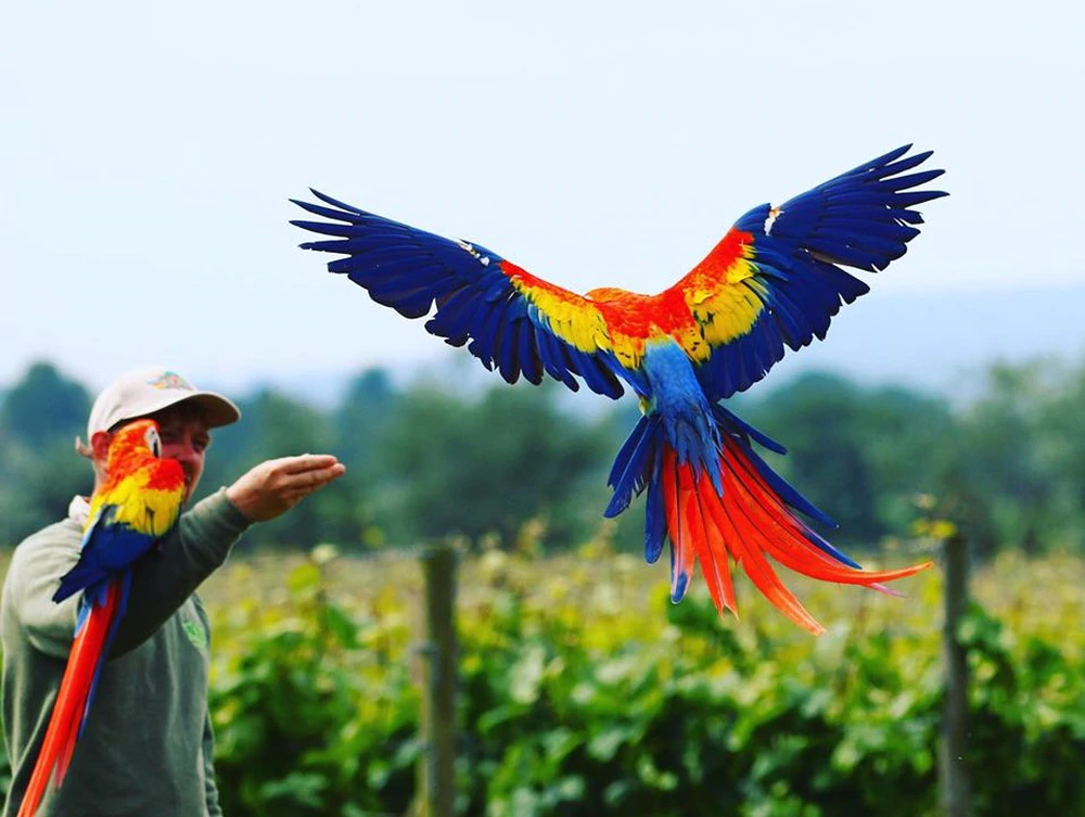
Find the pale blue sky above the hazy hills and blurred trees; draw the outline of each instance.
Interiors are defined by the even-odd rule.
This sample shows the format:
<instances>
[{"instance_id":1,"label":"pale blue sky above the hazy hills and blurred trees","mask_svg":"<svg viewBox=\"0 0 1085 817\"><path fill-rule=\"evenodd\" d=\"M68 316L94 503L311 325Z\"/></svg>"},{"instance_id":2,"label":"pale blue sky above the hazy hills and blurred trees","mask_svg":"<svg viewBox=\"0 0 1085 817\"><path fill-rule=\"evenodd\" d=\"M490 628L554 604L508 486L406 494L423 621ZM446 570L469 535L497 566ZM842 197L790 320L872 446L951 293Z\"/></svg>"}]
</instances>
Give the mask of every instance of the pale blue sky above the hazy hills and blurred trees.
<instances>
[{"instance_id":1,"label":"pale blue sky above the hazy hills and blurred trees","mask_svg":"<svg viewBox=\"0 0 1085 817\"><path fill-rule=\"evenodd\" d=\"M909 141L953 195L838 321L937 293L974 335L970 293L1085 284L1083 30L1070 2L9 4L0 384L40 357L100 386L443 354L296 248L309 186L656 292L749 207Z\"/></svg>"}]
</instances>

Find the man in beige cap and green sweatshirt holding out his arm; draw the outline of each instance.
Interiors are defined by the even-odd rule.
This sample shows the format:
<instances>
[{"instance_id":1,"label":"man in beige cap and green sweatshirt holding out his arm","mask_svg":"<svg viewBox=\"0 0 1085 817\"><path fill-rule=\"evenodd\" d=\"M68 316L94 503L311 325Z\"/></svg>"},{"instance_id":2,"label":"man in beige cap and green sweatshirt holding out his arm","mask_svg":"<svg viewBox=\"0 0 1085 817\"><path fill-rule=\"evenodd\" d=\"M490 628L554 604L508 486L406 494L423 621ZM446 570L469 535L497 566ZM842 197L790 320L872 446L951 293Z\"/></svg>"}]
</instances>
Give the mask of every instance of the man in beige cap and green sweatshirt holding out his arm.
<instances>
[{"instance_id":1,"label":"man in beige cap and green sweatshirt holding out his arm","mask_svg":"<svg viewBox=\"0 0 1085 817\"><path fill-rule=\"evenodd\" d=\"M122 375L94 401L89 445L76 444L93 462L95 488L105 477L112 433L143 417L159 423L162 456L181 463L188 500L203 473L210 430L237 422L241 412L162 368ZM72 766L39 815L221 815L207 713L209 627L195 589L251 524L275 519L343 472L330 455L263 462L183 513L161 547L135 564L128 611ZM0 641L12 783L3 817L18 810L72 646L78 595L60 604L52 596L79 558L88 510L86 497L73 499L67 519L23 541L8 570Z\"/></svg>"}]
</instances>

